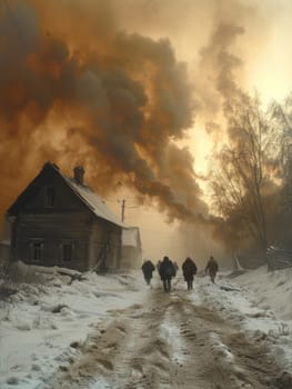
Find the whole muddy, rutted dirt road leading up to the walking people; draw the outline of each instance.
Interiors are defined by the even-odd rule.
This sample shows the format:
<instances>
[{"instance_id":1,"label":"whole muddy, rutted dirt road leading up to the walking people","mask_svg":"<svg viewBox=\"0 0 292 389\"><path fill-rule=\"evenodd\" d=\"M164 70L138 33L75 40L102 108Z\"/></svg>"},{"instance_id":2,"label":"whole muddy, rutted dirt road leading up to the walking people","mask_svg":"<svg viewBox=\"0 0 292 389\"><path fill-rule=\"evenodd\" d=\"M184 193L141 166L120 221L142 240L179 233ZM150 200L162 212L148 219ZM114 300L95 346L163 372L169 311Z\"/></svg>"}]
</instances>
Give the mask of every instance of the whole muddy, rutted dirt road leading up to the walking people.
<instances>
[{"instance_id":1,"label":"whole muddy, rutted dirt road leading up to the walking people","mask_svg":"<svg viewBox=\"0 0 292 389\"><path fill-rule=\"evenodd\" d=\"M189 296L152 289L144 306L117 311L53 389L283 389L262 345Z\"/></svg>"}]
</instances>

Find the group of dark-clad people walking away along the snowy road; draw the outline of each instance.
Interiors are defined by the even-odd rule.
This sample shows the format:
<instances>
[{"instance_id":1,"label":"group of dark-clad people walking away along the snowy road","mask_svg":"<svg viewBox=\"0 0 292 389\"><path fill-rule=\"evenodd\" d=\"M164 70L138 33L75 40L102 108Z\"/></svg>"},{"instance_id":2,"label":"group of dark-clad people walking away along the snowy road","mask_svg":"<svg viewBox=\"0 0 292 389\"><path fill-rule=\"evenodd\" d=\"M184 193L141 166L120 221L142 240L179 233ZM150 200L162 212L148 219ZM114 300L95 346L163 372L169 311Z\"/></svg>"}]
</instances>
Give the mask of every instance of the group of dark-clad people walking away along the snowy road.
<instances>
[{"instance_id":1,"label":"group of dark-clad people walking away along the snowy road","mask_svg":"<svg viewBox=\"0 0 292 389\"><path fill-rule=\"evenodd\" d=\"M178 269L179 267L177 262L171 261L169 257L163 257L163 260L158 262L157 270L163 282L164 291L168 292L171 290L171 280L177 276ZM148 285L151 282L152 273L154 270L155 267L151 260L143 262L142 272ZM193 278L197 275L197 270L198 269L194 261L188 257L182 263L182 273L184 281L187 282L188 290L191 290L193 288ZM214 283L219 266L213 256L210 257L204 270L207 273L209 273L211 281Z\"/></svg>"}]
</instances>

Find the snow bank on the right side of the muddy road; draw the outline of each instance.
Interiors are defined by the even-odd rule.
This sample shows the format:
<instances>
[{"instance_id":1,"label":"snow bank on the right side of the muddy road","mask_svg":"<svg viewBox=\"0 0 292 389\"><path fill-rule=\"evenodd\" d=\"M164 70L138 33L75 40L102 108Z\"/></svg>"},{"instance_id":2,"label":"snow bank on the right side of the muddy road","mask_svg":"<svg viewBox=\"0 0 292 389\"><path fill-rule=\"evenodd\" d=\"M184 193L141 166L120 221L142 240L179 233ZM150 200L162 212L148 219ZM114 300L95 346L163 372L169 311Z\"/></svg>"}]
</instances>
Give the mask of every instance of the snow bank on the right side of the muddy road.
<instances>
[{"instance_id":1,"label":"snow bank on the right side of the muddy road","mask_svg":"<svg viewBox=\"0 0 292 389\"><path fill-rule=\"evenodd\" d=\"M266 267L235 278L219 276L217 285L199 279L201 305L220 316L254 341L266 341L283 367L292 371L292 269L269 272ZM193 299L193 296L191 297ZM198 303L198 298L193 299Z\"/></svg>"}]
</instances>

